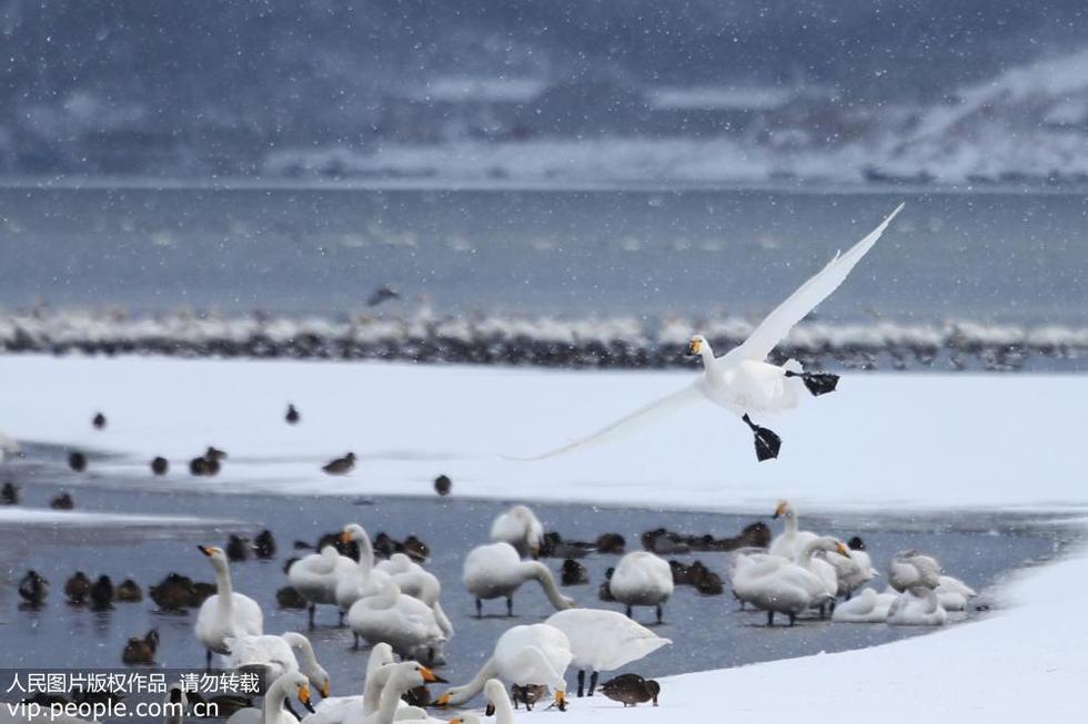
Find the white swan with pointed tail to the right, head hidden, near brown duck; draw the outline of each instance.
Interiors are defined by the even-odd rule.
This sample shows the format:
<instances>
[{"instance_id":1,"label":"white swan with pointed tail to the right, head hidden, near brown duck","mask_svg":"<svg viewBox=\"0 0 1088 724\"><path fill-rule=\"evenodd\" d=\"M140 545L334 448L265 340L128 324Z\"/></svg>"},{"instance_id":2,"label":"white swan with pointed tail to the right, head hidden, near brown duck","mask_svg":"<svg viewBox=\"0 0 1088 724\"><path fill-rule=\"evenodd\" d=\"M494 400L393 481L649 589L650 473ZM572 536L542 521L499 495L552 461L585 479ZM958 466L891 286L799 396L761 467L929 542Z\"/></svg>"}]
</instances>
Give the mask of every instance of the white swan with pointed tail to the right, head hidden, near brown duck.
<instances>
[{"instance_id":1,"label":"white swan with pointed tail to the right, head hidden, near brown duck","mask_svg":"<svg viewBox=\"0 0 1088 724\"><path fill-rule=\"evenodd\" d=\"M614 671L673 643L616 611L572 609L553 613L544 623L565 633L571 642L571 665L578 670L578 696L585 690L586 670L592 672L588 693L593 696L600 672Z\"/></svg>"}]
</instances>

